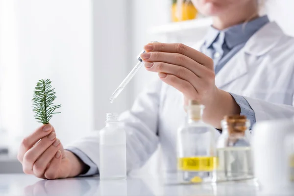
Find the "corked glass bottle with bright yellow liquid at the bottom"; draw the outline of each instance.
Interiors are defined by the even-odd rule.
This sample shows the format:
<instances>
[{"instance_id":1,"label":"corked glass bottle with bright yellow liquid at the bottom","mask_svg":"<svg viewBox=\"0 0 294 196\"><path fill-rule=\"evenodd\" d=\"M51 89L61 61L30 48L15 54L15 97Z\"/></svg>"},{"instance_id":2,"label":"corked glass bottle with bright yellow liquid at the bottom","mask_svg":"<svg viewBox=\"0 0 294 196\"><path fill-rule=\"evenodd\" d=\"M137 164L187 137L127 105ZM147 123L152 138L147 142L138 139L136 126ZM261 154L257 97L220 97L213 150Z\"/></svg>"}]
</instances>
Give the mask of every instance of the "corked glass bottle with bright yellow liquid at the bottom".
<instances>
[{"instance_id":1,"label":"corked glass bottle with bright yellow liquid at the bottom","mask_svg":"<svg viewBox=\"0 0 294 196\"><path fill-rule=\"evenodd\" d=\"M204 105L190 100L188 123L177 132L178 181L212 182L216 179L215 129L202 121Z\"/></svg>"}]
</instances>

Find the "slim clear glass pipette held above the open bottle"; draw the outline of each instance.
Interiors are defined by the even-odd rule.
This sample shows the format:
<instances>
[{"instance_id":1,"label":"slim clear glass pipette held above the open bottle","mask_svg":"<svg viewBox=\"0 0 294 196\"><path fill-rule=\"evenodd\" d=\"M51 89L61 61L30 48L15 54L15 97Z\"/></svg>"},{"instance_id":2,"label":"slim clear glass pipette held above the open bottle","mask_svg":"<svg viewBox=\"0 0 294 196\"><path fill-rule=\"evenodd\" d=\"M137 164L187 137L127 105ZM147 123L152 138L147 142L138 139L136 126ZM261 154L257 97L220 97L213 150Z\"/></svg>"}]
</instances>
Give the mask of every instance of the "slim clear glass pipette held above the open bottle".
<instances>
[{"instance_id":1,"label":"slim clear glass pipette held above the open bottle","mask_svg":"<svg viewBox=\"0 0 294 196\"><path fill-rule=\"evenodd\" d=\"M154 41L154 42L156 42L156 41ZM154 42L150 42L150 43L154 43ZM137 65L124 78L124 80L122 81L122 83L119 85L119 87L114 91L114 93L109 98L110 103L112 103L114 101L114 99L116 99L121 94L121 92L123 91L123 88L129 83L129 81L134 77L134 75L138 72L138 70L145 64L145 62L140 57L140 55L142 53L145 53L145 50L143 50L142 52L140 52L140 54L137 57L137 59L139 60L139 62L137 63Z\"/></svg>"}]
</instances>

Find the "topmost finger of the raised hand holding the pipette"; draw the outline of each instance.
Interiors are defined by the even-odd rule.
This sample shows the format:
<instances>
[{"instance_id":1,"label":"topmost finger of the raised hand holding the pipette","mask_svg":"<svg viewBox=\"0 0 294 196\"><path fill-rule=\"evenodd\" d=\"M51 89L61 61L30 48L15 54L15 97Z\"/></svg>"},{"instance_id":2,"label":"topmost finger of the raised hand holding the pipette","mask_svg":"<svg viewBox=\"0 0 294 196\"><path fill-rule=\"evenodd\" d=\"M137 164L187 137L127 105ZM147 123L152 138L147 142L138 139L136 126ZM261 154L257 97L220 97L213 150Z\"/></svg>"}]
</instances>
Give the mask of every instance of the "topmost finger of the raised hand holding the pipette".
<instances>
[{"instance_id":1,"label":"topmost finger of the raised hand holding the pipette","mask_svg":"<svg viewBox=\"0 0 294 196\"><path fill-rule=\"evenodd\" d=\"M184 44L164 44L164 43L149 43L144 47L145 51L160 51L169 53L183 54L201 65L208 68L213 68L213 60L196 49L185 46Z\"/></svg>"}]
</instances>

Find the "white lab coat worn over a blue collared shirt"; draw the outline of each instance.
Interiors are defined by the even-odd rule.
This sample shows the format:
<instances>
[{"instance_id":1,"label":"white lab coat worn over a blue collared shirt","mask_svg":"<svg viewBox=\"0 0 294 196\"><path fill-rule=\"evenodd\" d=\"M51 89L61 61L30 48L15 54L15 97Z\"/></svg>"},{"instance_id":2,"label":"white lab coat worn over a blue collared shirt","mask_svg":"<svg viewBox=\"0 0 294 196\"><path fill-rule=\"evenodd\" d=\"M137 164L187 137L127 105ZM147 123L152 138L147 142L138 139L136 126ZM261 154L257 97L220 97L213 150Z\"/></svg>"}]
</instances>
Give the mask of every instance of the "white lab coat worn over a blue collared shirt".
<instances>
[{"instance_id":1,"label":"white lab coat worn over a blue collared shirt","mask_svg":"<svg viewBox=\"0 0 294 196\"><path fill-rule=\"evenodd\" d=\"M257 122L294 116L294 38L274 22L265 25L216 75L216 86L244 96ZM185 117L183 95L159 79L152 83L120 117L127 170L144 165L160 143L164 169L175 171L176 131ZM99 168L98 131L70 147L85 152Z\"/></svg>"}]
</instances>

